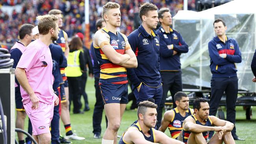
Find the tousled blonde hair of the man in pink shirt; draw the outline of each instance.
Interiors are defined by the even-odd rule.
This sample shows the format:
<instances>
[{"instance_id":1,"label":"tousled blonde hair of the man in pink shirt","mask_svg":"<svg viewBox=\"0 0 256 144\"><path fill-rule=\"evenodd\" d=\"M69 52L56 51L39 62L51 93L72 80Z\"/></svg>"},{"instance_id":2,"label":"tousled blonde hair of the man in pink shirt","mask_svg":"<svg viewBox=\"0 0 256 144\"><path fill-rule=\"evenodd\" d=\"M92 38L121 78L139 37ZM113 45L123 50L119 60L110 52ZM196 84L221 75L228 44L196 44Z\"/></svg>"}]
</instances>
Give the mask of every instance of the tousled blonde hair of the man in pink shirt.
<instances>
[{"instance_id":1,"label":"tousled blonde hair of the man in pink shirt","mask_svg":"<svg viewBox=\"0 0 256 144\"><path fill-rule=\"evenodd\" d=\"M37 26L39 30L39 34L41 35L46 35L49 33L49 30L51 28L56 29L56 25L58 22L58 17L55 15L42 15L42 16L37 16L37 20L39 20Z\"/></svg>"}]
</instances>

